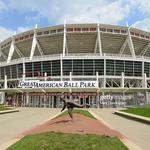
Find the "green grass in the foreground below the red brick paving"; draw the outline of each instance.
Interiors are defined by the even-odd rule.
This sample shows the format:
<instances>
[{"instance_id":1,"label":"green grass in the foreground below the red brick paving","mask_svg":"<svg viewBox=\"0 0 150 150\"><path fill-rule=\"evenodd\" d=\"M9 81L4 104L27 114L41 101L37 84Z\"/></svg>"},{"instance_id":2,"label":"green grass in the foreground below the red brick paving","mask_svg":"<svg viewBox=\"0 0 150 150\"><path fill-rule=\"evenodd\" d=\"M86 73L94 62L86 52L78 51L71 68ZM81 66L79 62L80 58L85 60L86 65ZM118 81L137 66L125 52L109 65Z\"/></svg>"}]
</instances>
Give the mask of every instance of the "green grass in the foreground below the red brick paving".
<instances>
[{"instance_id":1,"label":"green grass in the foreground below the red brick paving","mask_svg":"<svg viewBox=\"0 0 150 150\"><path fill-rule=\"evenodd\" d=\"M28 135L8 150L127 150L116 137L47 132Z\"/></svg>"}]
</instances>

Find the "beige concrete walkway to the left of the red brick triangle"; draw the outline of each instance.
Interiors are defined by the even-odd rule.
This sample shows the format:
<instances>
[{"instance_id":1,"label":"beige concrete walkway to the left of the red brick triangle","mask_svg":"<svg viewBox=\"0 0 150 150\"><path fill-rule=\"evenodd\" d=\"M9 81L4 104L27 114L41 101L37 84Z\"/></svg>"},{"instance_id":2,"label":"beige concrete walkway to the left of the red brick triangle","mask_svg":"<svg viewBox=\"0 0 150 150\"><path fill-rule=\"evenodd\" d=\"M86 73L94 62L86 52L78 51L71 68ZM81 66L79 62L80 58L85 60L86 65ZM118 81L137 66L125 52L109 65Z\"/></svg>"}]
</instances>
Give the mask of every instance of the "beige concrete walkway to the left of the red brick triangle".
<instances>
[{"instance_id":1,"label":"beige concrete walkway to the left of the red brick triangle","mask_svg":"<svg viewBox=\"0 0 150 150\"><path fill-rule=\"evenodd\" d=\"M58 112L60 109L20 108L20 112L0 115L0 145L9 142L24 131L48 121Z\"/></svg>"}]
</instances>

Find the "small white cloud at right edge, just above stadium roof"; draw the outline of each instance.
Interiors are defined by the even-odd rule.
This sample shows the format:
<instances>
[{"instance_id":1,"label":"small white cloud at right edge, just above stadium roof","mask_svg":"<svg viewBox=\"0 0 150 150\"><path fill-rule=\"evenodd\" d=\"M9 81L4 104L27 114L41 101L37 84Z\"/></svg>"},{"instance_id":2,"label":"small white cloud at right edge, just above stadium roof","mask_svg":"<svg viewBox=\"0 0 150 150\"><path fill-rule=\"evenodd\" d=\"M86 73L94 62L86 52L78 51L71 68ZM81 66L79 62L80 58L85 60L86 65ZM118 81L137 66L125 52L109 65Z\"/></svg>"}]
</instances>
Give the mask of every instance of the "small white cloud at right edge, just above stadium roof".
<instances>
[{"instance_id":1,"label":"small white cloud at right edge, just above stadium roof","mask_svg":"<svg viewBox=\"0 0 150 150\"><path fill-rule=\"evenodd\" d=\"M137 21L133 24L134 27L150 32L150 18Z\"/></svg>"}]
</instances>

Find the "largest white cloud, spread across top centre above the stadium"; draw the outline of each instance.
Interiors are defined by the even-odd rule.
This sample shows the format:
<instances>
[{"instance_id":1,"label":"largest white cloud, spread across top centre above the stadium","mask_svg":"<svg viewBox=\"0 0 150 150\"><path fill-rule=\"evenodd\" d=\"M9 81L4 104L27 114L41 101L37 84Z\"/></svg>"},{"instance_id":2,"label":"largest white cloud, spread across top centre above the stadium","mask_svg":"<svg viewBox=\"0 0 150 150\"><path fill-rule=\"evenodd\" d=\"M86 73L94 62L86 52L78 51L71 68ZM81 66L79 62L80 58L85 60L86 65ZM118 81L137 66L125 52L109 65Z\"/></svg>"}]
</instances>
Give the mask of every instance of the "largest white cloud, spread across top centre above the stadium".
<instances>
[{"instance_id":1,"label":"largest white cloud, spread across top centre above the stadium","mask_svg":"<svg viewBox=\"0 0 150 150\"><path fill-rule=\"evenodd\" d=\"M63 23L65 16L69 23L99 21L118 24L130 10L129 5L123 4L122 0L11 0L11 7L21 12L35 11L39 17L44 16L56 24Z\"/></svg>"}]
</instances>

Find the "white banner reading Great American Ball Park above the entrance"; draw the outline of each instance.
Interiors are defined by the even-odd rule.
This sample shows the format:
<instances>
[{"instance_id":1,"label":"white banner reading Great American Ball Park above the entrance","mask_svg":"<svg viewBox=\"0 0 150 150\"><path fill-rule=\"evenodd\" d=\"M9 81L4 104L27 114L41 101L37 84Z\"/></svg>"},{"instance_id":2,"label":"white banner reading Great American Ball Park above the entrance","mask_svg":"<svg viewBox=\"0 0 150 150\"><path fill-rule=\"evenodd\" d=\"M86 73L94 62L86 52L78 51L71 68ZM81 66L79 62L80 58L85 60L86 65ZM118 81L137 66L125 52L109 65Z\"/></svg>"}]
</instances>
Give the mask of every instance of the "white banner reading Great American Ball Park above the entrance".
<instances>
[{"instance_id":1,"label":"white banner reading Great American Ball Park above the entrance","mask_svg":"<svg viewBox=\"0 0 150 150\"><path fill-rule=\"evenodd\" d=\"M98 88L96 81L20 81L20 88Z\"/></svg>"}]
</instances>

